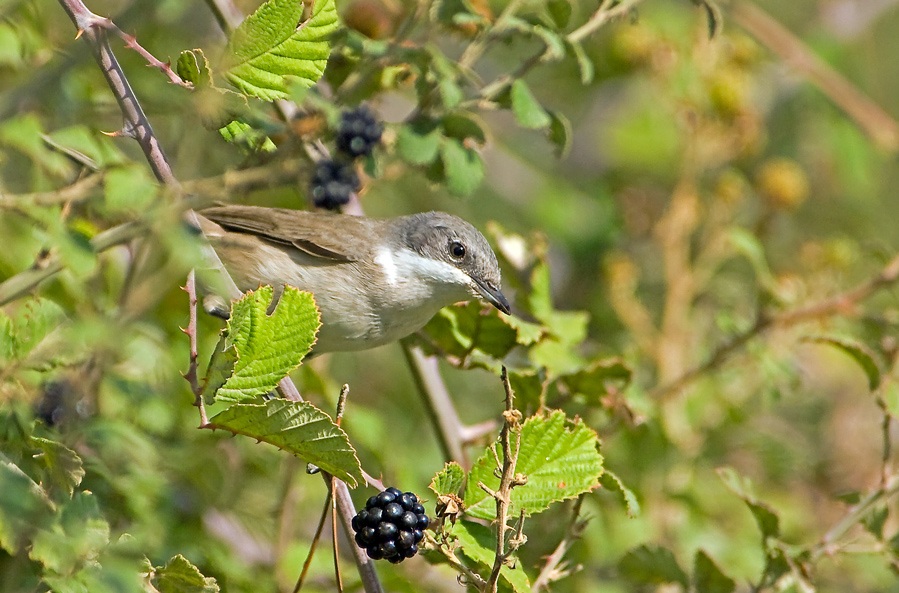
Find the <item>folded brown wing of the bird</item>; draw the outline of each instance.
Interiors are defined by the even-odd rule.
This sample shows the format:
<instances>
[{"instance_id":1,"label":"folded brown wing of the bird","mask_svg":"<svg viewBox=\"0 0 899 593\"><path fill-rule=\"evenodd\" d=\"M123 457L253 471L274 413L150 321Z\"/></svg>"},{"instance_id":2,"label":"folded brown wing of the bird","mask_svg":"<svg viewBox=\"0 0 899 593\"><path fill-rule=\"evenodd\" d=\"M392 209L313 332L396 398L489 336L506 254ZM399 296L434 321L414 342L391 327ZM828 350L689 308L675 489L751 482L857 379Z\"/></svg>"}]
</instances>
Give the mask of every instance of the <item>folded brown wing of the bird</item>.
<instances>
[{"instance_id":1,"label":"folded brown wing of the bird","mask_svg":"<svg viewBox=\"0 0 899 593\"><path fill-rule=\"evenodd\" d=\"M321 230L328 227L328 219L341 216L338 214L235 205L206 208L200 214L226 230L290 245L313 257L344 262L356 259L347 253L350 241L346 237L334 236L333 233ZM348 223L358 226L363 224L362 221L352 220L343 224Z\"/></svg>"}]
</instances>

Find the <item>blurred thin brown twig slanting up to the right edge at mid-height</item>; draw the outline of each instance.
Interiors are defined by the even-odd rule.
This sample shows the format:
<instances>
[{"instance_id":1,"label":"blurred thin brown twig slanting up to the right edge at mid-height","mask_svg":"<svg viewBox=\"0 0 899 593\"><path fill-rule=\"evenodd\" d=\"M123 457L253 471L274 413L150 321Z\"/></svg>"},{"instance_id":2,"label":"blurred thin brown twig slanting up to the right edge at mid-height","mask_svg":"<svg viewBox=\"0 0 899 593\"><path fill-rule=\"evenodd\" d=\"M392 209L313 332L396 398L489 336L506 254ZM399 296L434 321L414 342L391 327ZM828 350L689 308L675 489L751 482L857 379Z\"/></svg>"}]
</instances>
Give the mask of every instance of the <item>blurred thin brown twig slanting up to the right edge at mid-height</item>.
<instances>
[{"instance_id":1,"label":"blurred thin brown twig slanting up to the right edge at mid-height","mask_svg":"<svg viewBox=\"0 0 899 593\"><path fill-rule=\"evenodd\" d=\"M752 327L732 338L727 344L720 346L705 362L686 371L670 383L653 390L652 396L667 398L679 392L705 373L720 366L749 341L769 329L790 327L838 313L851 313L862 301L877 291L896 283L897 280L899 280L899 255L894 256L874 277L846 292L779 315L762 315Z\"/></svg>"}]
</instances>

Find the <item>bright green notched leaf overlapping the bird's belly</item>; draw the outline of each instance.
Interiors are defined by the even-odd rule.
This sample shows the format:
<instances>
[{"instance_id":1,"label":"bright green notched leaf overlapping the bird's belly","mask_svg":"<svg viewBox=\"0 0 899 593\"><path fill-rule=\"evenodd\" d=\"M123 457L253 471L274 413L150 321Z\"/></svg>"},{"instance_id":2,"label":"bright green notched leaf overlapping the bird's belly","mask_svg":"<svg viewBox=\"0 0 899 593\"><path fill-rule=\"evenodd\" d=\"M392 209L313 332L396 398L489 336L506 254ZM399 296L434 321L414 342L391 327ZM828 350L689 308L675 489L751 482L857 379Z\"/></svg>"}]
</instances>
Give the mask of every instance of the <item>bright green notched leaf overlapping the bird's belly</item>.
<instances>
[{"instance_id":1,"label":"bright green notched leaf overlapping the bird's belly","mask_svg":"<svg viewBox=\"0 0 899 593\"><path fill-rule=\"evenodd\" d=\"M263 286L231 306L222 349L234 349L235 357L225 360L234 360L234 369L216 391L216 399L242 401L269 393L312 348L321 325L312 295L286 286L269 315L273 295L271 286ZM222 370L210 367L210 372Z\"/></svg>"}]
</instances>

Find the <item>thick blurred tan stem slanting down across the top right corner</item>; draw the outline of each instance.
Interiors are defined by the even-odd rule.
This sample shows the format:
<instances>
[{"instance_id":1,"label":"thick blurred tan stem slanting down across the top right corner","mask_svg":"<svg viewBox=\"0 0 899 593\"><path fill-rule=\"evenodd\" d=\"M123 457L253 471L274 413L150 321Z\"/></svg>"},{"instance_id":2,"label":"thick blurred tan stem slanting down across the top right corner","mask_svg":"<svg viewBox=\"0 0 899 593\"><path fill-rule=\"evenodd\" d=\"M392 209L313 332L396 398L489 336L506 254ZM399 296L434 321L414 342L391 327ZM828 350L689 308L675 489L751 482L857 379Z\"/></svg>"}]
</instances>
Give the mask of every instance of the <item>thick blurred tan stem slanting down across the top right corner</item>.
<instances>
[{"instance_id":1,"label":"thick blurred tan stem slanting down across the top right corner","mask_svg":"<svg viewBox=\"0 0 899 593\"><path fill-rule=\"evenodd\" d=\"M899 150L899 122L786 27L750 2L735 2L732 13L741 27L830 97L874 142L889 151Z\"/></svg>"}]
</instances>

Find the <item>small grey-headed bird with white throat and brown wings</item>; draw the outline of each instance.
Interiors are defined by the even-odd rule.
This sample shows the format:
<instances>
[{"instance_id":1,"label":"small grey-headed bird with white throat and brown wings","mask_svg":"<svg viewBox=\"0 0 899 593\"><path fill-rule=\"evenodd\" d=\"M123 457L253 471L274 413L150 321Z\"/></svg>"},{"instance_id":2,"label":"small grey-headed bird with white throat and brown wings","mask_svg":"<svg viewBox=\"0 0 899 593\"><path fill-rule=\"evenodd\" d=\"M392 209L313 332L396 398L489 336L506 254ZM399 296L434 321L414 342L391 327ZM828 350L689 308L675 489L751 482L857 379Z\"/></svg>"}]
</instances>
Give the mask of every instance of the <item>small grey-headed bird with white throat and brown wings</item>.
<instances>
[{"instance_id":1,"label":"small grey-headed bird with white throat and brown wings","mask_svg":"<svg viewBox=\"0 0 899 593\"><path fill-rule=\"evenodd\" d=\"M272 285L277 298L289 285L312 293L321 314L314 354L399 340L472 298L511 314L496 254L452 214L379 219L221 205L200 210L199 224L241 291Z\"/></svg>"}]
</instances>

